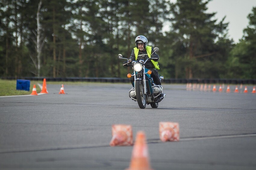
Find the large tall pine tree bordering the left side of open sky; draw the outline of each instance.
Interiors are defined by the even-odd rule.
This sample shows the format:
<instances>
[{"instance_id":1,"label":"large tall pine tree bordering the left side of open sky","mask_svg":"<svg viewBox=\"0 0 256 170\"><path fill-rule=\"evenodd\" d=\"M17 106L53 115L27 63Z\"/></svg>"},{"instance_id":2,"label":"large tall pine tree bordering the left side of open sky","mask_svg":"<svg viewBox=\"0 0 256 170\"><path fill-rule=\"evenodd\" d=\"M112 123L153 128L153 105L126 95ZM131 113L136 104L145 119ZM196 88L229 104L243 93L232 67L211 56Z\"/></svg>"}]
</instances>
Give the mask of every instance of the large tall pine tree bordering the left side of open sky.
<instances>
[{"instance_id":1,"label":"large tall pine tree bordering the left side of open sky","mask_svg":"<svg viewBox=\"0 0 256 170\"><path fill-rule=\"evenodd\" d=\"M180 56L177 56L183 64L177 64L176 67L185 65L186 78L200 75L197 73L207 70L210 63L217 65L211 61L211 56L219 53L215 41L218 41L219 35L223 34L227 24L223 23L223 20L219 24L216 24L216 20L212 20L215 13L206 13L208 2L177 0L171 5L172 31L179 41L177 46L175 45L176 53L178 54L180 48L184 50L183 53L179 53Z\"/></svg>"}]
</instances>

